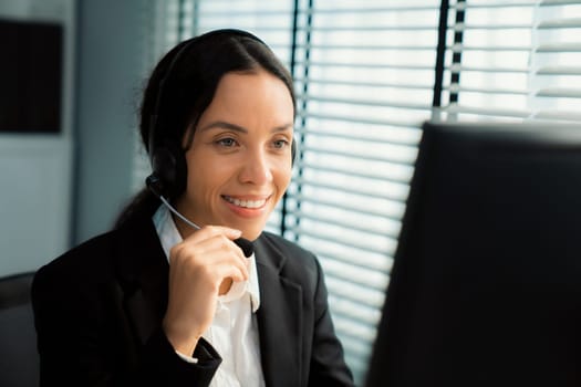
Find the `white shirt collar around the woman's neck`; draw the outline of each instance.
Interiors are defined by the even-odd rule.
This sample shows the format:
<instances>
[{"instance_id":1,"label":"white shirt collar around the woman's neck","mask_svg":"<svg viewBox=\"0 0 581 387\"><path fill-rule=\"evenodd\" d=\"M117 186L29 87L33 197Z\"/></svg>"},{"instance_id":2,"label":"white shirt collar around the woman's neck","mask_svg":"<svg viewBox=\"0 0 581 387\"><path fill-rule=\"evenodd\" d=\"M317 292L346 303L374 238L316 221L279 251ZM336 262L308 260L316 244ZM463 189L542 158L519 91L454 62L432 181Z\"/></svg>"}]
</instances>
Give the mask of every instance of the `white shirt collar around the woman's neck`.
<instances>
[{"instance_id":1,"label":"white shirt collar around the woman's neck","mask_svg":"<svg viewBox=\"0 0 581 387\"><path fill-rule=\"evenodd\" d=\"M152 220L157 231L157 236L164 249L166 258L169 260L169 250L177 243L184 241L179 231L177 230L172 213L165 206L159 206L157 211L152 217ZM252 312L258 311L260 307L260 289L258 285L258 272L255 253L248 258L250 264L248 265L249 278L245 282L234 282L228 293L220 295L218 301L221 303L228 303L242 297L246 293L250 295L250 302L252 304Z\"/></svg>"}]
</instances>

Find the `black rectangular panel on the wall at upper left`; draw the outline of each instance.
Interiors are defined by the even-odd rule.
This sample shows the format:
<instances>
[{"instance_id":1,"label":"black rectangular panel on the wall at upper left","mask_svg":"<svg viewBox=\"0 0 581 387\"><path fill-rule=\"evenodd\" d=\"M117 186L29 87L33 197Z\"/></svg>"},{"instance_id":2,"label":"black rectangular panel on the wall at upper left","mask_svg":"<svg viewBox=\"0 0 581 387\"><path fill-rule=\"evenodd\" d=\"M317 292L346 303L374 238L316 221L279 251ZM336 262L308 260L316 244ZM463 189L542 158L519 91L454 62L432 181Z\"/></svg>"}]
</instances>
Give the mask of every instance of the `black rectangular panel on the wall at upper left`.
<instances>
[{"instance_id":1,"label":"black rectangular panel on the wall at upper left","mask_svg":"<svg viewBox=\"0 0 581 387\"><path fill-rule=\"evenodd\" d=\"M60 133L63 28L0 19L0 133Z\"/></svg>"}]
</instances>

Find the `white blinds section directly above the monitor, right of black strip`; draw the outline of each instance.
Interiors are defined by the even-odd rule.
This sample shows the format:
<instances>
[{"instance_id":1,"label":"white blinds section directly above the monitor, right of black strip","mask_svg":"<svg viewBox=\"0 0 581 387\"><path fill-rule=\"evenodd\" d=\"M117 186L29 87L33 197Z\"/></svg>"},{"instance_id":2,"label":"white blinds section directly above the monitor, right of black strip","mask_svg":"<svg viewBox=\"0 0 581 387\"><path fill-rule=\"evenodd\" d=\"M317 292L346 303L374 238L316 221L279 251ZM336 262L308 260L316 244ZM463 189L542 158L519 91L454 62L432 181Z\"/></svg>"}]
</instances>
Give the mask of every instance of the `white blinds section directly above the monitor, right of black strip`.
<instances>
[{"instance_id":1,"label":"white blinds section directly above the monitor, right of black strip","mask_svg":"<svg viewBox=\"0 0 581 387\"><path fill-rule=\"evenodd\" d=\"M447 119L581 119L579 1L457 1L449 19Z\"/></svg>"}]
</instances>

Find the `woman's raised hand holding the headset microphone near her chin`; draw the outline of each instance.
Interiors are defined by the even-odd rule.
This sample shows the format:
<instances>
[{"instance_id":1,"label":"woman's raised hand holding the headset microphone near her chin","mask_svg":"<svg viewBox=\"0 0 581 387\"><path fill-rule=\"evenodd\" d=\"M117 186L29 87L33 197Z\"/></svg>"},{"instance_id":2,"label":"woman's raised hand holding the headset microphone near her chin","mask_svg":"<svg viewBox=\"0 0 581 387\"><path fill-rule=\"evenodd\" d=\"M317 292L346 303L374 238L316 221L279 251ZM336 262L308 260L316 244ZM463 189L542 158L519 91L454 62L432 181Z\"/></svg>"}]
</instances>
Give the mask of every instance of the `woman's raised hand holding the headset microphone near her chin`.
<instances>
[{"instance_id":1,"label":"woman's raised hand holding the headset microphone near her chin","mask_svg":"<svg viewBox=\"0 0 581 387\"><path fill-rule=\"evenodd\" d=\"M169 300L163 327L174 349L191 355L210 326L218 295L248 280L248 260L232 240L241 231L207 226L169 252Z\"/></svg>"}]
</instances>

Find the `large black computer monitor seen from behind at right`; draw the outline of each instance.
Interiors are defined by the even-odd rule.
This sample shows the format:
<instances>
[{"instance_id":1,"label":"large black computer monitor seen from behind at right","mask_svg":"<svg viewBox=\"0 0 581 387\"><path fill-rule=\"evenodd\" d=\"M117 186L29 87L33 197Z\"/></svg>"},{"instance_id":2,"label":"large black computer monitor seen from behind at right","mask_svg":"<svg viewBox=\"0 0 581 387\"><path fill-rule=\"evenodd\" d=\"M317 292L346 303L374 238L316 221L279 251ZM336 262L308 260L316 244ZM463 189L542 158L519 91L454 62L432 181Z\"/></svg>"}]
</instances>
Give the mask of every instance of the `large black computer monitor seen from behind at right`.
<instances>
[{"instance_id":1,"label":"large black computer monitor seen from behind at right","mask_svg":"<svg viewBox=\"0 0 581 387\"><path fill-rule=\"evenodd\" d=\"M423 130L365 386L581 385L581 125Z\"/></svg>"}]
</instances>

